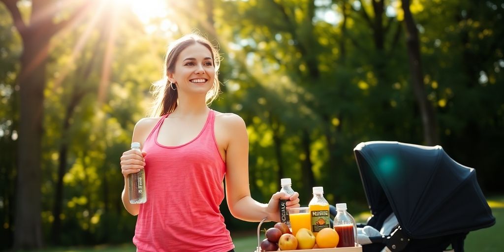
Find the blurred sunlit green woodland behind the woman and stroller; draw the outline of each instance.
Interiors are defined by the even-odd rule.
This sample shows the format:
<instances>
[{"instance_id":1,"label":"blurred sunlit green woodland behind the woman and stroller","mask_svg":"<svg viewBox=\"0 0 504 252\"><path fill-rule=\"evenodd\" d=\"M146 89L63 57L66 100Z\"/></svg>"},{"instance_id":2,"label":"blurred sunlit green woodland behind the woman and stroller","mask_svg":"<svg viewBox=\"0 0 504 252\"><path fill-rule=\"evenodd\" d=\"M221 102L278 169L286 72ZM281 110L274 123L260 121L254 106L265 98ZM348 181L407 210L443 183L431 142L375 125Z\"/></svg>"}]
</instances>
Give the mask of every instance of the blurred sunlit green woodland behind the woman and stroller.
<instances>
[{"instance_id":1,"label":"blurred sunlit green woodland behind the woman and stroller","mask_svg":"<svg viewBox=\"0 0 504 252\"><path fill-rule=\"evenodd\" d=\"M302 205L324 186L365 210L353 148L373 140L441 145L501 195L503 15L500 0L0 0L0 249L131 243L119 157L168 43L193 31L220 48L212 108L247 124L258 201L291 177ZM221 211L232 234L257 228Z\"/></svg>"}]
</instances>

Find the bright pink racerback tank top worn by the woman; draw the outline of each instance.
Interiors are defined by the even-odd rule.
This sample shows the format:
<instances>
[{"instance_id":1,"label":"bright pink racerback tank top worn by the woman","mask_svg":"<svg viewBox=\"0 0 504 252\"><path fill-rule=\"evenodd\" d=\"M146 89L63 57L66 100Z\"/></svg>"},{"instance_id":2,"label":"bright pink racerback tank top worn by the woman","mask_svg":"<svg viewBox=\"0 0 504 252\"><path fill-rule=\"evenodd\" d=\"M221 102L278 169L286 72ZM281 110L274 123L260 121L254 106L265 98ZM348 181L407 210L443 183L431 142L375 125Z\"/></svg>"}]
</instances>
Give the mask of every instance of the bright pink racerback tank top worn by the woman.
<instances>
[{"instance_id":1,"label":"bright pink racerback tank top worn by the woman","mask_svg":"<svg viewBox=\"0 0 504 252\"><path fill-rule=\"evenodd\" d=\"M158 143L161 116L143 150L147 202L140 206L133 243L137 251L228 251L234 248L219 205L226 164L214 136L215 112L192 141Z\"/></svg>"}]
</instances>

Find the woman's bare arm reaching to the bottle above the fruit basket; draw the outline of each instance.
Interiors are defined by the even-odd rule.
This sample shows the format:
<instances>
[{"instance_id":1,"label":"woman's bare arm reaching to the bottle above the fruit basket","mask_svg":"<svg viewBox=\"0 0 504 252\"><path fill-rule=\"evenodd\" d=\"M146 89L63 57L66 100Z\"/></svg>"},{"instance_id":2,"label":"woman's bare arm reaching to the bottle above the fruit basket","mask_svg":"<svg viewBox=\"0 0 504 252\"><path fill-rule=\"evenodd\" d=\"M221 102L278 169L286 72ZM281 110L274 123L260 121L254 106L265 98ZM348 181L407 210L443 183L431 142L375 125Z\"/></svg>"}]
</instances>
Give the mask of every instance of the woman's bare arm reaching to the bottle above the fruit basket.
<instances>
[{"instance_id":1,"label":"woman's bare arm reaching to the bottle above the fruit basket","mask_svg":"<svg viewBox=\"0 0 504 252\"><path fill-rule=\"evenodd\" d=\"M244 221L257 222L265 217L270 221L280 221L279 200L290 200L287 208L299 207L298 193L288 197L275 193L268 204L262 204L250 197L248 181L248 135L245 122L235 114L225 114L223 126L226 132L226 195L231 214Z\"/></svg>"}]
</instances>

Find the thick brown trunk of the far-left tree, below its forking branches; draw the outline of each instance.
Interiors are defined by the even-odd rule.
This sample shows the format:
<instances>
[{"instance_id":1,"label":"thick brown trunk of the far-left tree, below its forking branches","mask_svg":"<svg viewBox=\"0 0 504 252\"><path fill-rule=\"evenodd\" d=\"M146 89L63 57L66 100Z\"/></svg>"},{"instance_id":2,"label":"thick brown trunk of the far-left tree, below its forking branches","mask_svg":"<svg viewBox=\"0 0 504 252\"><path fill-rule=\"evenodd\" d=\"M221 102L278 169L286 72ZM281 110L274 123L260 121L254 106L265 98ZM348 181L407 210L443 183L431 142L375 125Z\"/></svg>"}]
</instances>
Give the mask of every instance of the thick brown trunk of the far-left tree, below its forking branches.
<instances>
[{"instance_id":1,"label":"thick brown trunk of the far-left tree, below its forking branches","mask_svg":"<svg viewBox=\"0 0 504 252\"><path fill-rule=\"evenodd\" d=\"M29 34L23 42L14 249L33 249L42 247L40 143L49 39Z\"/></svg>"}]
</instances>

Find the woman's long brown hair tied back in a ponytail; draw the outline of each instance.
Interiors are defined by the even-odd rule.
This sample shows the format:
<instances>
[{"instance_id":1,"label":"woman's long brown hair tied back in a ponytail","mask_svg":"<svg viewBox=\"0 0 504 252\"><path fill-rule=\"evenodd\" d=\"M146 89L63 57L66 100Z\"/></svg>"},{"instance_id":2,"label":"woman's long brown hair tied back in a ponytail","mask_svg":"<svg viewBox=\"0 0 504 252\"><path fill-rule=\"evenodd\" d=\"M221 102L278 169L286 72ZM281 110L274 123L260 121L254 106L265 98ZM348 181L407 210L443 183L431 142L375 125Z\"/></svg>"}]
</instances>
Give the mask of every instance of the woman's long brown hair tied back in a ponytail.
<instances>
[{"instance_id":1,"label":"woman's long brown hair tied back in a ponytail","mask_svg":"<svg viewBox=\"0 0 504 252\"><path fill-rule=\"evenodd\" d=\"M191 33L173 41L168 46L168 51L166 52L166 56L164 58L163 79L154 83L153 85L154 90L152 93L154 98L154 105L150 113L151 116L161 116L167 113L171 113L177 107L178 91L171 88L172 84L168 80L167 74L173 73L175 71L175 62L177 61L180 52L187 48L187 46L193 45L195 43L200 43L210 50L210 52L212 53L212 61L215 68L214 83L206 96L207 104L210 105L210 103L212 103L212 101L214 101L219 95L219 51L212 45L212 43L210 43L210 41L208 41L208 39L196 33Z\"/></svg>"}]
</instances>

